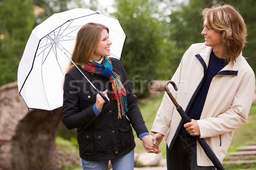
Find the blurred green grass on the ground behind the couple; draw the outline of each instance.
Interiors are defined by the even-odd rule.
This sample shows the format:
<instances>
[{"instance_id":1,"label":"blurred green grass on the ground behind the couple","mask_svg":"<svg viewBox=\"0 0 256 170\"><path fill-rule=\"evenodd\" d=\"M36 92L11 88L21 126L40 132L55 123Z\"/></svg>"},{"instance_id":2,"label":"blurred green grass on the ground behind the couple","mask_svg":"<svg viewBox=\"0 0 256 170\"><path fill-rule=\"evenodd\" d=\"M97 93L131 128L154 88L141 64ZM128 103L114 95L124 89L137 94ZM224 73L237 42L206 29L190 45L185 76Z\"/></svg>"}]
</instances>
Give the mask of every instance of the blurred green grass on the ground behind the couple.
<instances>
[{"instance_id":1,"label":"blurred green grass on the ground behind the couple","mask_svg":"<svg viewBox=\"0 0 256 170\"><path fill-rule=\"evenodd\" d=\"M142 100L139 101L139 103L140 103L139 107L140 107L141 113L143 115L145 125L147 126L148 131L151 135L153 135L153 133L151 133L150 130L153 125L157 110L160 107L160 104L162 102L162 99L163 99L163 95L158 96L158 97L149 97L149 98L143 100L143 102L142 102ZM253 102L247 122L235 131L231 145L227 152L229 153L229 152L237 151L237 147L239 147L239 146L247 146L253 142L256 142L256 130L255 129L256 129L256 102ZM134 136L135 136L134 139L136 142L135 152L136 153L145 152L145 150L143 148L143 144L140 141L140 139L137 138L137 135L135 132L134 132ZM67 148L71 147L72 149L76 150L77 156L79 158L78 145L77 145L77 142L75 139L72 142L70 142L70 141L61 139L61 137L56 138L56 146L57 147L63 148L66 145L68 145ZM65 151L64 151L64 154L69 154L68 149L64 149L64 150L67 150L67 153L65 153ZM162 151L163 159L166 159L166 142L164 140L160 144L160 150ZM236 170L236 169L241 170L243 168L246 170L256 170L256 168L254 168L254 167L255 167L255 164L253 164L253 165L244 165L244 164L225 165L225 169L232 169L232 170Z\"/></svg>"}]
</instances>

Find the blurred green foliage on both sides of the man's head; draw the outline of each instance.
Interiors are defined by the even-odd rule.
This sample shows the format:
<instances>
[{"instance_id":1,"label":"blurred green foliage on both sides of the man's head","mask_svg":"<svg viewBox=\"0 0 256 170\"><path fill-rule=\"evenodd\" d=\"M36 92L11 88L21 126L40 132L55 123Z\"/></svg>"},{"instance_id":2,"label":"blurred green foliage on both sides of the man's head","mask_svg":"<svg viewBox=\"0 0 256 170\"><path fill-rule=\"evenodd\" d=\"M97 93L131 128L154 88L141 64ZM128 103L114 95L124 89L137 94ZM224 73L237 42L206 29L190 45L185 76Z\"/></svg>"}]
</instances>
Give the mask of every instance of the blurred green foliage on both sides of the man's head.
<instances>
[{"instance_id":1,"label":"blurred green foliage on both sides of the man's head","mask_svg":"<svg viewBox=\"0 0 256 170\"><path fill-rule=\"evenodd\" d=\"M253 70L256 70L256 1L255 0L189 0L188 3L180 3L175 6L175 10L170 14L170 27L172 30L171 39L177 42L177 48L183 53L193 43L204 42L201 35L203 29L203 20L201 11L204 8L211 8L213 5L220 3L230 4L238 9L247 25L247 44L243 50L243 56ZM180 55L180 58L182 55Z\"/></svg>"}]
</instances>

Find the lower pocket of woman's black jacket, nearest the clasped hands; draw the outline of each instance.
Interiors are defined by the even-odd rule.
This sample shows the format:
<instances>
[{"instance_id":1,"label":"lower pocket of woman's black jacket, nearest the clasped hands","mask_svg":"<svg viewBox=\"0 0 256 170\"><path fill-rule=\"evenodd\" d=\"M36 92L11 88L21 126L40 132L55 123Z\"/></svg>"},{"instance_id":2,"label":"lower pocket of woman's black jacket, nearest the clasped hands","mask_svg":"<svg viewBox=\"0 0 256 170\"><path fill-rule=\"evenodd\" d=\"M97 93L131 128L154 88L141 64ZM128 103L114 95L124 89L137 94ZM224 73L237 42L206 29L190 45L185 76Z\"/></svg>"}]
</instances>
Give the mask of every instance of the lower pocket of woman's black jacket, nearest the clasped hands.
<instances>
[{"instance_id":1,"label":"lower pocket of woman's black jacket, nearest the clasped hands","mask_svg":"<svg viewBox=\"0 0 256 170\"><path fill-rule=\"evenodd\" d=\"M125 148L128 147L134 141L134 136L132 133L132 128L130 125L126 127L119 127L120 131L120 140L121 140L121 147Z\"/></svg>"}]
</instances>

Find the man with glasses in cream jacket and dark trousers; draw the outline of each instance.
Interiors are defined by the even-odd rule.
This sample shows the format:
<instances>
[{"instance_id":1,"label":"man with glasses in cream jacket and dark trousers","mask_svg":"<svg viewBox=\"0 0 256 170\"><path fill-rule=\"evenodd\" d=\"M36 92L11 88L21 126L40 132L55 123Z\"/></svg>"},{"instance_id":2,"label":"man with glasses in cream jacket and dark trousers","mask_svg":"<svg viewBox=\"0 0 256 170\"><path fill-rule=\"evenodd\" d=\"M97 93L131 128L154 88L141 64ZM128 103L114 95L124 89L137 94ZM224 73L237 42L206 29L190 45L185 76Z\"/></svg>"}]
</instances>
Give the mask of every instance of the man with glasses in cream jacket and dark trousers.
<instances>
[{"instance_id":1,"label":"man with glasses in cream jacket and dark trousers","mask_svg":"<svg viewBox=\"0 0 256 170\"><path fill-rule=\"evenodd\" d=\"M253 70L241 55L247 35L243 18L229 5L202 14L205 42L183 55L172 77L178 91L169 86L192 122L183 124L165 94L151 129L156 145L166 140L169 170L215 170L193 136L204 138L222 161L234 130L247 120L255 93Z\"/></svg>"}]
</instances>

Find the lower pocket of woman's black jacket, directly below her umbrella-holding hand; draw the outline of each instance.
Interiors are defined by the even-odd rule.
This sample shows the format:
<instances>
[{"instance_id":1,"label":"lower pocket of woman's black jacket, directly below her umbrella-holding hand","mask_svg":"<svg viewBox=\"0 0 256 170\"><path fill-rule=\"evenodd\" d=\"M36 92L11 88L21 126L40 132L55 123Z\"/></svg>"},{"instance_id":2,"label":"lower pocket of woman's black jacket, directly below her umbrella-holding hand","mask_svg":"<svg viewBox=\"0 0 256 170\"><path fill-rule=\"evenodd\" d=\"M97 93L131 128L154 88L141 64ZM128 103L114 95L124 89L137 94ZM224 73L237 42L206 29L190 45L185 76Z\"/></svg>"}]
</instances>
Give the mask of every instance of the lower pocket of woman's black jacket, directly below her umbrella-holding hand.
<instances>
[{"instance_id":1,"label":"lower pocket of woman's black jacket, directly below her umbrella-holding hand","mask_svg":"<svg viewBox=\"0 0 256 170\"><path fill-rule=\"evenodd\" d=\"M94 132L94 150L96 152L107 152L107 142L104 132Z\"/></svg>"}]
</instances>

